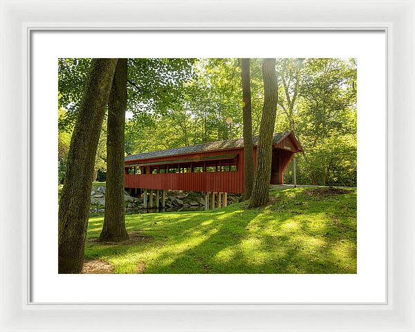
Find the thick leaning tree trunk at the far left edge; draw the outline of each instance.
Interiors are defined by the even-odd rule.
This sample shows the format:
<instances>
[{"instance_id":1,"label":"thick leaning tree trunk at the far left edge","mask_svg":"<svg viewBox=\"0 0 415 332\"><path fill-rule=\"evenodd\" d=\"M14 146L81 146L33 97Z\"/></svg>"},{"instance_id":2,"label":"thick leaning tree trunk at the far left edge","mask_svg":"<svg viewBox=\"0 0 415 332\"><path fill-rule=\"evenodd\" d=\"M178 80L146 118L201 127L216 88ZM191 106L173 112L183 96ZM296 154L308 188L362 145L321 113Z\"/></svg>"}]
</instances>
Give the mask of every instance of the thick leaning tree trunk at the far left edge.
<instances>
[{"instance_id":1,"label":"thick leaning tree trunk at the far left edge","mask_svg":"<svg viewBox=\"0 0 415 332\"><path fill-rule=\"evenodd\" d=\"M95 154L118 59L93 59L71 145L59 202L58 272L80 273Z\"/></svg>"}]
</instances>

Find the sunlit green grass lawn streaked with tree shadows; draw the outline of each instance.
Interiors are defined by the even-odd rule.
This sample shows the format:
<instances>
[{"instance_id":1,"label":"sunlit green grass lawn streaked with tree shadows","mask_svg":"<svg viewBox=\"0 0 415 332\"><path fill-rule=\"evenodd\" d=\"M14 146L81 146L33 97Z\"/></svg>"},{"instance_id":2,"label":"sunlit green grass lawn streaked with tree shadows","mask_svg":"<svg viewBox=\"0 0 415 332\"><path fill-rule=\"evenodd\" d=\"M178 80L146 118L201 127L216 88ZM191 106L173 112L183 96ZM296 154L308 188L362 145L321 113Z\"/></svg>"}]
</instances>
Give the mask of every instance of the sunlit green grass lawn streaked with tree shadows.
<instances>
[{"instance_id":1,"label":"sunlit green grass lawn streaked with tree shadows","mask_svg":"<svg viewBox=\"0 0 415 332\"><path fill-rule=\"evenodd\" d=\"M274 188L253 210L127 215L124 243L98 243L103 216L91 217L85 259L114 273L356 273L356 190L324 190Z\"/></svg>"}]
</instances>

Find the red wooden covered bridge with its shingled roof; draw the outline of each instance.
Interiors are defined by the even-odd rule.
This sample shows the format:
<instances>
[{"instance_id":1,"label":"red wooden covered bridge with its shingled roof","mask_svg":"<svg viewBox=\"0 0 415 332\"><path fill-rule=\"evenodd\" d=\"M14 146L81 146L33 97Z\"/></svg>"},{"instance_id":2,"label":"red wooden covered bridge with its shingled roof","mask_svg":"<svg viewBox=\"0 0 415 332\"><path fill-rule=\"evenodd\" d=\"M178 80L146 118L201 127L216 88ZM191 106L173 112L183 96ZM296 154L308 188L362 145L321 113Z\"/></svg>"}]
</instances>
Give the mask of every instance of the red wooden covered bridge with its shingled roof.
<instances>
[{"instance_id":1,"label":"red wooden covered bridge with its shingled roof","mask_svg":"<svg viewBox=\"0 0 415 332\"><path fill-rule=\"evenodd\" d=\"M252 141L255 165L258 138ZM302 148L293 133L274 133L271 184L284 184L284 170L298 151ZM243 138L125 158L125 187L145 190L145 201L147 190L157 190L157 205L158 190L163 190L163 196L164 190L241 194L245 190L244 176Z\"/></svg>"}]
</instances>

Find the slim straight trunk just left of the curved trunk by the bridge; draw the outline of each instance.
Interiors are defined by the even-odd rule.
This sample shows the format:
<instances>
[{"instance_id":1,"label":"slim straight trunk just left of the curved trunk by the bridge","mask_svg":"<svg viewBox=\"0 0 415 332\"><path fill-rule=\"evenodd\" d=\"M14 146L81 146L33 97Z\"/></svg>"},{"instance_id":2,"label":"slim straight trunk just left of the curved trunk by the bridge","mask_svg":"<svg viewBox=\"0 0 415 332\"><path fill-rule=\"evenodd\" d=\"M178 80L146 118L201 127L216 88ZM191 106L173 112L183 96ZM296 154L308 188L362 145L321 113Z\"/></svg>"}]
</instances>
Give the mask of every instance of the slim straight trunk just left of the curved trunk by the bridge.
<instances>
[{"instance_id":1,"label":"slim straight trunk just left of the curved trunk by the bridge","mask_svg":"<svg viewBox=\"0 0 415 332\"><path fill-rule=\"evenodd\" d=\"M254 157L252 155L252 113L250 91L250 59L241 60L243 100L243 160L245 164L245 193L243 199L250 199L254 185Z\"/></svg>"}]
</instances>

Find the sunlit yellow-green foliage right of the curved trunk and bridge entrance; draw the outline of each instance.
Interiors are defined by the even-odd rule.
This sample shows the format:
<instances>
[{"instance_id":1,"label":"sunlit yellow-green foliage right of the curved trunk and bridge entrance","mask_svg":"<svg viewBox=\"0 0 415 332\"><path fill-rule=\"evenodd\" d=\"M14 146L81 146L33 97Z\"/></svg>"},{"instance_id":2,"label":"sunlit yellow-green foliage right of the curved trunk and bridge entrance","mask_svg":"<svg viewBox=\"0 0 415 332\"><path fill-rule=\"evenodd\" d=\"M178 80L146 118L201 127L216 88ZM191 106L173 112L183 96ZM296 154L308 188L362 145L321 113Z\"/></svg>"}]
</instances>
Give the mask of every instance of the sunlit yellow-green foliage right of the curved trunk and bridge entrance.
<instances>
[{"instance_id":1,"label":"sunlit yellow-green foliage right of the curved trunk and bridge entrance","mask_svg":"<svg viewBox=\"0 0 415 332\"><path fill-rule=\"evenodd\" d=\"M297 156L297 182L356 186L355 60L280 59L277 71L276 131L293 131L304 149ZM291 183L291 165L286 175Z\"/></svg>"}]
</instances>

